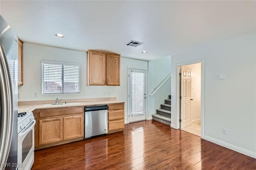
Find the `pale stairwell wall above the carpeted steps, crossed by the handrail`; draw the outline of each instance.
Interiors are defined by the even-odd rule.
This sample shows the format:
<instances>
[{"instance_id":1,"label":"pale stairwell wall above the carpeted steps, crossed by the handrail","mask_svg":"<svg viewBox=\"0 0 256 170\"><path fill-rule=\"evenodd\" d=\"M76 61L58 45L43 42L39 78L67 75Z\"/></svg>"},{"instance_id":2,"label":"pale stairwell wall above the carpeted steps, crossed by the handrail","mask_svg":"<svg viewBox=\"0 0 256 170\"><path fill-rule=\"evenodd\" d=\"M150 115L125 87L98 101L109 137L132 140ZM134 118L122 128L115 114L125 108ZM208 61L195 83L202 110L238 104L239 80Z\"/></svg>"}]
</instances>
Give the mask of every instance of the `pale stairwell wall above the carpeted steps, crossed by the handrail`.
<instances>
[{"instance_id":1,"label":"pale stairwell wall above the carpeted steps, crossed by the handrail","mask_svg":"<svg viewBox=\"0 0 256 170\"><path fill-rule=\"evenodd\" d=\"M153 87L158 87L160 83L171 73L171 56L161 57L160 59L148 61L148 88L149 94L154 91ZM156 109L168 99L171 94L171 79L169 78L164 85L153 95L149 96L149 116L156 113Z\"/></svg>"}]
</instances>

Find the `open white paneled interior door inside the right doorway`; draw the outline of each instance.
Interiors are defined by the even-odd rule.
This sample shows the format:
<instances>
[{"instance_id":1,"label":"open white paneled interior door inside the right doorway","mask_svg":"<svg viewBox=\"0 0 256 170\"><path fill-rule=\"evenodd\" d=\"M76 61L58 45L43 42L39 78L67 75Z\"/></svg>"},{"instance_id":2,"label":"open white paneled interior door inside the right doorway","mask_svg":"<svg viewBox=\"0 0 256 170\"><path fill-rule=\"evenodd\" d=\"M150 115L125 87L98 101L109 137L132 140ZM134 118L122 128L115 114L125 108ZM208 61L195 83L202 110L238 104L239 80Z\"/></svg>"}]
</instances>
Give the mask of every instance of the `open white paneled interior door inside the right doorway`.
<instances>
[{"instance_id":1,"label":"open white paneled interior door inside the right doorway","mask_svg":"<svg viewBox=\"0 0 256 170\"><path fill-rule=\"evenodd\" d=\"M192 124L191 119L191 69L188 67L181 67L181 82L180 82L180 128L187 127Z\"/></svg>"}]
</instances>

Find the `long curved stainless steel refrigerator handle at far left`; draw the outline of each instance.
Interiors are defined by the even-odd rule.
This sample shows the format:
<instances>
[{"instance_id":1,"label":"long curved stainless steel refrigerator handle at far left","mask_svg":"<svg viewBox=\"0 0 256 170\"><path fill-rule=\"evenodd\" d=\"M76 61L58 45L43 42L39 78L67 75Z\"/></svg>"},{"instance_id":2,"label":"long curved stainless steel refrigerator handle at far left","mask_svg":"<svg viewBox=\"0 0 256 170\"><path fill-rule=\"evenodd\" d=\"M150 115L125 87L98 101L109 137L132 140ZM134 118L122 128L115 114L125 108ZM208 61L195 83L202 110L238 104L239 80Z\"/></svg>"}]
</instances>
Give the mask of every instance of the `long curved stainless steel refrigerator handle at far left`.
<instances>
[{"instance_id":1,"label":"long curved stainless steel refrigerator handle at far left","mask_svg":"<svg viewBox=\"0 0 256 170\"><path fill-rule=\"evenodd\" d=\"M4 53L4 47L0 45L0 164L7 162L10 152L13 129L13 95L12 83L9 71L7 57ZM0 170L4 169L3 166Z\"/></svg>"}]
</instances>

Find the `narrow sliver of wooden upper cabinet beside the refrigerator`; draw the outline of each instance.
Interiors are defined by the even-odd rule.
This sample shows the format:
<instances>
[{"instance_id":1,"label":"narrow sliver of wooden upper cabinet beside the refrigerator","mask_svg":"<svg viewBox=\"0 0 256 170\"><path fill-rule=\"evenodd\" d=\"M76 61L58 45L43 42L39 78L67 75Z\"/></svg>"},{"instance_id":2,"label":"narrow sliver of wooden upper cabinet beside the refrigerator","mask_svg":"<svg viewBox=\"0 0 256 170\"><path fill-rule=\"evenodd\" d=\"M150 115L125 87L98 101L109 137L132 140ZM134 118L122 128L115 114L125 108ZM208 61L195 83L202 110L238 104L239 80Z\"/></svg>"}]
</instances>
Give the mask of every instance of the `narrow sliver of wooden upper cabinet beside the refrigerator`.
<instances>
[{"instance_id":1,"label":"narrow sliver of wooden upper cabinet beside the refrigerator","mask_svg":"<svg viewBox=\"0 0 256 170\"><path fill-rule=\"evenodd\" d=\"M18 39L18 85L23 85L23 42Z\"/></svg>"}]
</instances>

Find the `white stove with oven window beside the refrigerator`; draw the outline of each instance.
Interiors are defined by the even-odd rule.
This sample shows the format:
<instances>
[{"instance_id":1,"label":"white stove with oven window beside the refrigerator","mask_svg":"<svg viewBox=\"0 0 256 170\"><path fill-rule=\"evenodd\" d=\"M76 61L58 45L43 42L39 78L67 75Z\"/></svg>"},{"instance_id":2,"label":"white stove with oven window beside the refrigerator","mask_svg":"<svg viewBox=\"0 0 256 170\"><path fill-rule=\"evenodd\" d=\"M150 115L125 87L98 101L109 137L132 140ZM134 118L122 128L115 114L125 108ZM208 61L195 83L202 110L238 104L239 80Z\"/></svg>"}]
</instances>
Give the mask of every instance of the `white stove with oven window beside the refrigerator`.
<instances>
[{"instance_id":1,"label":"white stove with oven window beside the refrigerator","mask_svg":"<svg viewBox=\"0 0 256 170\"><path fill-rule=\"evenodd\" d=\"M34 163L34 126L32 112L18 114L18 170L30 170Z\"/></svg>"}]
</instances>

